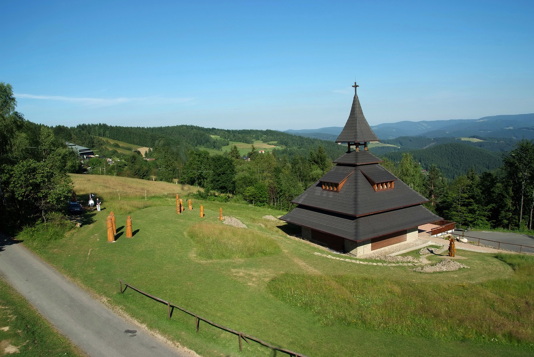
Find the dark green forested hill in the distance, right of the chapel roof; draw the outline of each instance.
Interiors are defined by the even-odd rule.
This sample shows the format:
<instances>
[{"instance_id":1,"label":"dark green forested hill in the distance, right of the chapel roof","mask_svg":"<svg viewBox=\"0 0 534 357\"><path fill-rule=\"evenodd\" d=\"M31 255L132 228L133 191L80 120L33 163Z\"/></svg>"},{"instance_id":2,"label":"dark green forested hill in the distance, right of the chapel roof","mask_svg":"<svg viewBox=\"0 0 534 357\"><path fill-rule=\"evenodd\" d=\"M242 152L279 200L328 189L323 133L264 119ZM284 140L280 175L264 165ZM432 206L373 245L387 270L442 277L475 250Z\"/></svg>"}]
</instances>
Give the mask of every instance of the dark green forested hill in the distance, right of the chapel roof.
<instances>
[{"instance_id":1,"label":"dark green forested hill in the distance, right of the chapel roof","mask_svg":"<svg viewBox=\"0 0 534 357\"><path fill-rule=\"evenodd\" d=\"M474 147L461 142L437 144L426 149L410 150L416 162L421 163L423 169L428 170L431 164L438 168L448 178L465 174L474 167L476 172L491 171L502 165L502 154ZM403 152L395 151L383 156L391 161L400 162Z\"/></svg>"}]
</instances>

